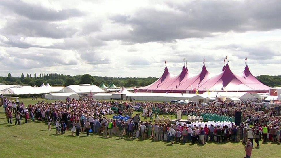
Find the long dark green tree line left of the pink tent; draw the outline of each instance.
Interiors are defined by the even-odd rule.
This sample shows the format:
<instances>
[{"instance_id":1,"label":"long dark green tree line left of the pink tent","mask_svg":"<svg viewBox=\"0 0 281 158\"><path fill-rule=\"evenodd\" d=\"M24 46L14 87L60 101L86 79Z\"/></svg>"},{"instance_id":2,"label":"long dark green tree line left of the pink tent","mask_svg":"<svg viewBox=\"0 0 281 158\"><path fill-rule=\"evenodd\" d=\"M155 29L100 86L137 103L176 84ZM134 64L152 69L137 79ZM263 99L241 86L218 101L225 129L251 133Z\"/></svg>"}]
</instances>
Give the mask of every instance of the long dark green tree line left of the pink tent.
<instances>
[{"instance_id":1,"label":"long dark green tree line left of the pink tent","mask_svg":"<svg viewBox=\"0 0 281 158\"><path fill-rule=\"evenodd\" d=\"M94 84L99 86L102 82L105 85L113 82L117 87L140 87L149 85L156 80L156 77L100 77L91 76L89 74L70 76L58 73L40 73L39 75L36 73L33 75L24 75L24 73L22 73L20 77L12 77L12 74L8 73L7 77L0 76L0 83L3 84L31 85L35 87L41 86L42 83L49 83L53 86L68 86L74 84Z\"/></svg>"}]
</instances>

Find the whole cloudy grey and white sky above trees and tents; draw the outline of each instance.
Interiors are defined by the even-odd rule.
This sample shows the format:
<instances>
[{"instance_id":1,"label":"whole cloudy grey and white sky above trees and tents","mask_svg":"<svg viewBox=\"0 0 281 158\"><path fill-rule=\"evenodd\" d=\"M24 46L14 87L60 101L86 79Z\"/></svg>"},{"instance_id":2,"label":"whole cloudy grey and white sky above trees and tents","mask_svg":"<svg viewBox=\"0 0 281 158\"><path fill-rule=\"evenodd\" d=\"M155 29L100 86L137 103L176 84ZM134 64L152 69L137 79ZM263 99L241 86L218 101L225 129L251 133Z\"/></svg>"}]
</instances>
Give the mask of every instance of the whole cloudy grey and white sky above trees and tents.
<instances>
[{"instance_id":1,"label":"whole cloudy grey and white sky above trees and tents","mask_svg":"<svg viewBox=\"0 0 281 158\"><path fill-rule=\"evenodd\" d=\"M0 1L0 75L280 75L280 1Z\"/></svg>"}]
</instances>

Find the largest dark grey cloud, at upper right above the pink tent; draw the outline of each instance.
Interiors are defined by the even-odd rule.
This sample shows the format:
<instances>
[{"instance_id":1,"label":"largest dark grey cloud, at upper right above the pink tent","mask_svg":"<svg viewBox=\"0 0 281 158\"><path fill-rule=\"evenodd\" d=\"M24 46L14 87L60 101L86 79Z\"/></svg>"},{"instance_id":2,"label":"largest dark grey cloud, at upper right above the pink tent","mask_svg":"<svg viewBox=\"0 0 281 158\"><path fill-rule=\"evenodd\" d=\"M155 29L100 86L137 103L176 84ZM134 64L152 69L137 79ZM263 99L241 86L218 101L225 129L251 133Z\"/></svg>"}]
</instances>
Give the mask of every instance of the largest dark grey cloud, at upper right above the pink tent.
<instances>
[{"instance_id":1,"label":"largest dark grey cloud, at upper right above the pink tent","mask_svg":"<svg viewBox=\"0 0 281 158\"><path fill-rule=\"evenodd\" d=\"M113 24L130 25L132 30L105 33L100 38L145 43L212 37L213 32L281 28L279 1L190 1L167 5L173 10L141 8L132 15L111 16Z\"/></svg>"}]
</instances>

